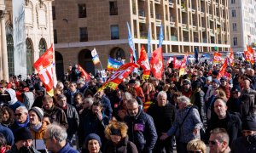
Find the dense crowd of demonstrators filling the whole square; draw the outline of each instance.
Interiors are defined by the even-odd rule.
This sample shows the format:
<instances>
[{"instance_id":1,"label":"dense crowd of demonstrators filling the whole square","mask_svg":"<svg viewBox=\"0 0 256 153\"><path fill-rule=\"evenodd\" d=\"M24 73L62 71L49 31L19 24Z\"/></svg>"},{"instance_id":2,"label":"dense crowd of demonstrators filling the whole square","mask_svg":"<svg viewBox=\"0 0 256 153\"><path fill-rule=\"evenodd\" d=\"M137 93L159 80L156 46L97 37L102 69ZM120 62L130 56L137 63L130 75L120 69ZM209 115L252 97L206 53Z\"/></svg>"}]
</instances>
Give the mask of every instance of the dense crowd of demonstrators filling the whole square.
<instances>
[{"instance_id":1,"label":"dense crowd of demonstrators filling the whole square","mask_svg":"<svg viewBox=\"0 0 256 153\"><path fill-rule=\"evenodd\" d=\"M38 75L12 76L0 82L0 152L255 153L255 67L236 61L218 78L220 66L180 76L171 63L161 81L133 72L116 90L74 66L53 96Z\"/></svg>"}]
</instances>

